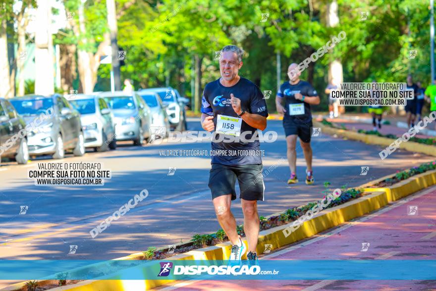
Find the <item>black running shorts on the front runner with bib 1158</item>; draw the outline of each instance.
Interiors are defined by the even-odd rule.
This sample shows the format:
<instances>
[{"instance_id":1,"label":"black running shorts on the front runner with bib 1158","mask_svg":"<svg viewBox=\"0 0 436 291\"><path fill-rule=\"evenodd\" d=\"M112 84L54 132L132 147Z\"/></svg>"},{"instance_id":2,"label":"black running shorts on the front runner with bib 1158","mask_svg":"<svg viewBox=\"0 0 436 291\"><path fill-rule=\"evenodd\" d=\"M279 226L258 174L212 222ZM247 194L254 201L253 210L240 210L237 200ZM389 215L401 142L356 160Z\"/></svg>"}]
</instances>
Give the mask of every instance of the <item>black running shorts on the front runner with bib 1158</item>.
<instances>
[{"instance_id":1,"label":"black running shorts on the front runner with bib 1158","mask_svg":"<svg viewBox=\"0 0 436 291\"><path fill-rule=\"evenodd\" d=\"M217 163L212 164L209 175L209 188L212 199L222 195L232 195L236 199L235 183L239 182L241 194L239 198L244 200L264 200L264 180L262 165L236 165L226 166Z\"/></svg>"}]
</instances>

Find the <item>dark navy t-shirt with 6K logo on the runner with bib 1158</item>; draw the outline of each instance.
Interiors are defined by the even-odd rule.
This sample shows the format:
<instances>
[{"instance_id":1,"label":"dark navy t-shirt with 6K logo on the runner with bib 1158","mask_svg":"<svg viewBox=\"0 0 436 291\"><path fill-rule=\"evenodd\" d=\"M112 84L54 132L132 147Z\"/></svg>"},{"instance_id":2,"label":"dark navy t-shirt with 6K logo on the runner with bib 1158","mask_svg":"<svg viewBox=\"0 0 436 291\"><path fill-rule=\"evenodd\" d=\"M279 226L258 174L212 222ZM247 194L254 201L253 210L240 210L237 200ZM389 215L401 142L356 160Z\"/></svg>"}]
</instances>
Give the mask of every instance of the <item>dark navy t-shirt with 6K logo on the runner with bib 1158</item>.
<instances>
[{"instance_id":1,"label":"dark navy t-shirt with 6K logo on the runner with bib 1158","mask_svg":"<svg viewBox=\"0 0 436 291\"><path fill-rule=\"evenodd\" d=\"M202 113L214 116L215 128L217 127L218 115L239 117L231 106L230 94L233 94L234 97L241 100L241 109L243 111L250 114L268 116L264 95L253 82L241 77L235 85L225 87L218 79L205 86L201 104ZM241 132L249 132L245 135L245 139L250 141L225 142L224 139L222 142L212 142L212 150L224 150L236 153L238 150L259 151L260 146L259 139L257 138L257 128L248 125L242 120ZM220 135L220 133L216 133L215 138L222 140ZM251 141L252 139L254 140ZM212 155L212 163L226 166L259 165L262 164L262 157L260 155Z\"/></svg>"}]
</instances>

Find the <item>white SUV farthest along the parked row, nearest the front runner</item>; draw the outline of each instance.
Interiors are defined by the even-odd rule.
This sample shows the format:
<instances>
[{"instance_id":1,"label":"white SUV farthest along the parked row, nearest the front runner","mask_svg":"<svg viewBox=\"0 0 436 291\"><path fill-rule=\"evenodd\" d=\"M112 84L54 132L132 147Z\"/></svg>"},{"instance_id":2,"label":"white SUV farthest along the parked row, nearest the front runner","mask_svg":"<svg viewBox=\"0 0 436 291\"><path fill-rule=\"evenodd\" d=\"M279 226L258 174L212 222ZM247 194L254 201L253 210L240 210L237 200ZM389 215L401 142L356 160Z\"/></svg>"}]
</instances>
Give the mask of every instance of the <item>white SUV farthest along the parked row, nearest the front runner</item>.
<instances>
[{"instance_id":1,"label":"white SUV farthest along the parked row, nearest the front runner","mask_svg":"<svg viewBox=\"0 0 436 291\"><path fill-rule=\"evenodd\" d=\"M171 128L178 131L186 130L185 105L189 100L181 97L177 90L171 87L149 88L139 91L140 94L151 92L158 93L162 102L168 105L166 112Z\"/></svg>"}]
</instances>

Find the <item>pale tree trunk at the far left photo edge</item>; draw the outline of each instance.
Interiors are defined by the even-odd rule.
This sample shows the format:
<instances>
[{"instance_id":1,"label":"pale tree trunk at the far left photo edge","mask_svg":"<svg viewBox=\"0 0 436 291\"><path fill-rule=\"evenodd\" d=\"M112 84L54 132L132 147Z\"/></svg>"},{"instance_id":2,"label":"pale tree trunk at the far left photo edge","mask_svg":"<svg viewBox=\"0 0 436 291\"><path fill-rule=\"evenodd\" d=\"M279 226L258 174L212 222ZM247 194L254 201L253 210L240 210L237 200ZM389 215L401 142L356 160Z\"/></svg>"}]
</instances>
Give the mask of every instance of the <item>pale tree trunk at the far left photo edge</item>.
<instances>
[{"instance_id":1,"label":"pale tree trunk at the far left photo edge","mask_svg":"<svg viewBox=\"0 0 436 291\"><path fill-rule=\"evenodd\" d=\"M7 58L6 20L0 20L0 97L13 97L9 82L9 60Z\"/></svg>"}]
</instances>

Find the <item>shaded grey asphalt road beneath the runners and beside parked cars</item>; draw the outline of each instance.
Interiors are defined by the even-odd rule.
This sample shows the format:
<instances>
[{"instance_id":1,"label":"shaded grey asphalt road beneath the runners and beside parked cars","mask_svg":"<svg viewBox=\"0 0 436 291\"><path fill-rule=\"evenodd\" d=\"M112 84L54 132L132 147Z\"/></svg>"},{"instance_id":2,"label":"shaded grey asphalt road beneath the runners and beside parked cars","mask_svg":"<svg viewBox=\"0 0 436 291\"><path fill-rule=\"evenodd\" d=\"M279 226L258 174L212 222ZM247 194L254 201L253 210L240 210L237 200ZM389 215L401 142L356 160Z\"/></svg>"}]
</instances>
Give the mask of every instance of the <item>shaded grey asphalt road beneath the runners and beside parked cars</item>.
<instances>
[{"instance_id":1,"label":"shaded grey asphalt road beneath the runners and beside parked cars","mask_svg":"<svg viewBox=\"0 0 436 291\"><path fill-rule=\"evenodd\" d=\"M198 118L188 122L190 130L201 130ZM434 157L397 150L381 160L381 147L321 135L314 137L315 185L304 183L305 163L298 146L299 184L289 186L289 168L285 160L286 143L281 121L269 120L267 130L278 132L274 143L263 143L264 170L277 168L265 177L265 201L259 203L263 216L322 197L323 182L330 188L358 186L375 178L434 160ZM36 186L27 178L29 165L0 167L0 258L1 259L113 259L150 246L189 241L196 233L219 229L208 188L210 156L160 156L161 150L210 150L210 142L162 143L134 147L119 146L106 153L87 153L68 157L63 163L101 162L112 171L104 186ZM282 162L280 162L282 161ZM367 175L361 167L369 166ZM174 175L167 175L175 167ZM143 189L149 196L112 222L96 238L90 231ZM232 211L242 223L237 199ZM29 208L19 215L20 206ZM77 245L68 254L69 245Z\"/></svg>"}]
</instances>

